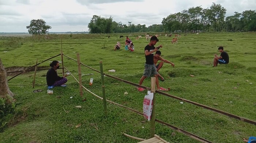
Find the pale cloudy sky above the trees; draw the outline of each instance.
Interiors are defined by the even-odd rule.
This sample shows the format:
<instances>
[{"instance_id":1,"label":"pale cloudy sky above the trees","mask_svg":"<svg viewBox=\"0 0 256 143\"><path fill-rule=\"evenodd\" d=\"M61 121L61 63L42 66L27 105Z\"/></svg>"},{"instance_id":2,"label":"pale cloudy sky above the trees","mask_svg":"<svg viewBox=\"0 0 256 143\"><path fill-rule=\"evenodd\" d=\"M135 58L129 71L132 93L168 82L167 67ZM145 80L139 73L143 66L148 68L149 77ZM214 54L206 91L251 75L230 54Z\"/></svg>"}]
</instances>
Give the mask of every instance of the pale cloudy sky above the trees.
<instances>
[{"instance_id":1,"label":"pale cloudy sky above the trees","mask_svg":"<svg viewBox=\"0 0 256 143\"><path fill-rule=\"evenodd\" d=\"M256 10L256 0L0 0L0 32L28 32L33 19L43 19L49 32L88 31L93 15L128 24L161 24L170 14L221 4L226 16Z\"/></svg>"}]
</instances>

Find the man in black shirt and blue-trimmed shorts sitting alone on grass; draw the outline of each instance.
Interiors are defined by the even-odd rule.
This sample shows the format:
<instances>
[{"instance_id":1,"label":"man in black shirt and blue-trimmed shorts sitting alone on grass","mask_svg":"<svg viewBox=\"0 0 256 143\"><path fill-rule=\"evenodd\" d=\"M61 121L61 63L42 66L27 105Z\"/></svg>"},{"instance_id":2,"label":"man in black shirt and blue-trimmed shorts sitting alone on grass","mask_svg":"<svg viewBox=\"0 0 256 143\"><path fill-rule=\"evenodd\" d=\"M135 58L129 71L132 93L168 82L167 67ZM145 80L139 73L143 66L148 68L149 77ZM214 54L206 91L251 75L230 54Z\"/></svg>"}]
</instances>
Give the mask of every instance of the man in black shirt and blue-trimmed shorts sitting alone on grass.
<instances>
[{"instance_id":1,"label":"man in black shirt and blue-trimmed shorts sitting alone on grass","mask_svg":"<svg viewBox=\"0 0 256 143\"><path fill-rule=\"evenodd\" d=\"M213 67L217 67L218 63L219 64L228 64L229 63L229 55L227 52L223 51L223 47L218 48L219 52L221 52L220 56L217 56L217 54L214 54L214 59L213 59Z\"/></svg>"}]
</instances>

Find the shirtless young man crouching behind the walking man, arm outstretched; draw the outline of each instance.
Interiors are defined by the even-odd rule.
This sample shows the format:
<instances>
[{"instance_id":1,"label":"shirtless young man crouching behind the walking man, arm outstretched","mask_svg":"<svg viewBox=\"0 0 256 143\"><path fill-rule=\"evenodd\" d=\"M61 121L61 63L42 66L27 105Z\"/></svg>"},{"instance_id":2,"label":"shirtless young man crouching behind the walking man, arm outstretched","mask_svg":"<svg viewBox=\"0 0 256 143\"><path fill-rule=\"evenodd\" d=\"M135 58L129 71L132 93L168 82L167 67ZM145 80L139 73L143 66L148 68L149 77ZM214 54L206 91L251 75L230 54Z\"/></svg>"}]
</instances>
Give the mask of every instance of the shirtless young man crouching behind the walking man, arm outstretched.
<instances>
[{"instance_id":1,"label":"shirtless young man crouching behind the walking man, arm outstretched","mask_svg":"<svg viewBox=\"0 0 256 143\"><path fill-rule=\"evenodd\" d=\"M174 67L174 63L166 60L166 59L163 59L161 56L161 51L157 51L155 52L155 55L154 55L154 64L155 64L155 68L157 68L157 72L160 70L160 68L162 68L163 66L163 62L165 63L169 63L169 64L172 64L172 67ZM157 64L157 61L158 60L161 60L161 62L159 64ZM165 79L159 74L158 72L158 76L161 78L161 81L164 81Z\"/></svg>"}]
</instances>

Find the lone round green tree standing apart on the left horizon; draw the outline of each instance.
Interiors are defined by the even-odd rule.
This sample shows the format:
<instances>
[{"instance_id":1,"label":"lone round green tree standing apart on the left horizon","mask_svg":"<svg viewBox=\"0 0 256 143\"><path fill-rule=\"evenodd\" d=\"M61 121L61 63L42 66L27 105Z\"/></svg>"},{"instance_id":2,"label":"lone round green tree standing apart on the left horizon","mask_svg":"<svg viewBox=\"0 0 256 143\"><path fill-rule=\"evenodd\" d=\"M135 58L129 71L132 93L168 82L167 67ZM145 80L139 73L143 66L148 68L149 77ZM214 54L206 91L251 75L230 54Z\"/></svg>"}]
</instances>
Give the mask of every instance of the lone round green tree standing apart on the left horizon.
<instances>
[{"instance_id":1,"label":"lone round green tree standing apart on the left horizon","mask_svg":"<svg viewBox=\"0 0 256 143\"><path fill-rule=\"evenodd\" d=\"M48 30L51 29L49 25L46 25L46 22L42 19L31 20L30 25L26 27L31 35L45 35L48 33Z\"/></svg>"}]
</instances>

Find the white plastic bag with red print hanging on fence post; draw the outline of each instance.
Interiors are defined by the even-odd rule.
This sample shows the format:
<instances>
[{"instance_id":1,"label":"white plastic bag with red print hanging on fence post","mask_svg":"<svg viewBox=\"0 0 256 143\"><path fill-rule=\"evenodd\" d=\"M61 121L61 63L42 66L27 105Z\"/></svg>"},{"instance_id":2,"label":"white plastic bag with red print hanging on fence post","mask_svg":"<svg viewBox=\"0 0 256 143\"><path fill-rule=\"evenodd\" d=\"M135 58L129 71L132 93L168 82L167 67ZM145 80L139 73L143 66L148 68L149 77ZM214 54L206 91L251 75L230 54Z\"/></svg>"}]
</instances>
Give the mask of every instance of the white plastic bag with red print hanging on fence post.
<instances>
[{"instance_id":1,"label":"white plastic bag with red print hanging on fence post","mask_svg":"<svg viewBox=\"0 0 256 143\"><path fill-rule=\"evenodd\" d=\"M151 93L151 91L147 91L147 95L144 96L144 100L143 100L143 114L148 121L150 121L151 119L151 113L153 108L153 97L154 97L154 93Z\"/></svg>"}]
</instances>

